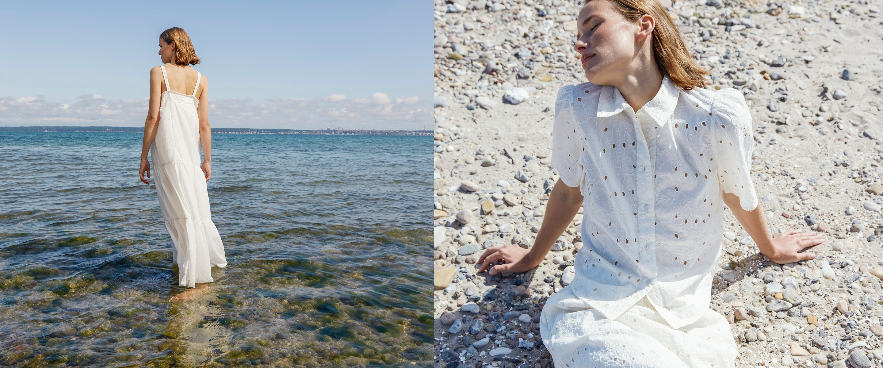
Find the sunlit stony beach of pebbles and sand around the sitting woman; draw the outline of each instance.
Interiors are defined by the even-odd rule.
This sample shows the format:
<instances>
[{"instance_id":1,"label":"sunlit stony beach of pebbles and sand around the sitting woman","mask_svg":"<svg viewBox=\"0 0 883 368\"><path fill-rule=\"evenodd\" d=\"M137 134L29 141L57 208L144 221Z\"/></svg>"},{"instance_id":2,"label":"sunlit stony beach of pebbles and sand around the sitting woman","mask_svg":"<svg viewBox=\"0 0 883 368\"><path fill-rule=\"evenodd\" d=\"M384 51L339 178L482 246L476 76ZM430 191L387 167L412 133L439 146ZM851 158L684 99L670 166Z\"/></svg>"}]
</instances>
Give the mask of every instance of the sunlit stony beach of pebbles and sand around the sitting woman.
<instances>
[{"instance_id":1,"label":"sunlit stony beach of pebbles and sand around the sitting woman","mask_svg":"<svg viewBox=\"0 0 883 368\"><path fill-rule=\"evenodd\" d=\"M745 94L773 234L826 239L816 259L776 264L725 211L711 307L731 322L736 366L883 366L879 2L666 5L710 68L708 87ZM435 367L555 366L538 322L573 280L582 215L530 272L479 274L476 260L492 246L530 248L540 229L558 178L555 95L586 81L572 49L580 6L435 1Z\"/></svg>"}]
</instances>

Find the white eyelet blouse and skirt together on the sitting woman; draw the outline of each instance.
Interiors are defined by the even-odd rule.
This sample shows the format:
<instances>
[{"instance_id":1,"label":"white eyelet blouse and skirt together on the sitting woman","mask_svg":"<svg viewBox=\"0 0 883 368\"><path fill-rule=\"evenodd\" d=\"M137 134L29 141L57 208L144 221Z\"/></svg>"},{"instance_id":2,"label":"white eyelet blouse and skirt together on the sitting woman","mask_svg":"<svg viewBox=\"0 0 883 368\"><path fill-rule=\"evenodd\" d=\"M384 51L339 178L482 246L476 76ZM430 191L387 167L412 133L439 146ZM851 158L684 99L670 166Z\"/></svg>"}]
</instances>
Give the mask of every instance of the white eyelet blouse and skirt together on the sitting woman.
<instances>
[{"instance_id":1,"label":"white eyelet blouse and skirt together on the sitting woman","mask_svg":"<svg viewBox=\"0 0 883 368\"><path fill-rule=\"evenodd\" d=\"M613 86L564 86L552 159L584 198L573 282L547 300L555 367L728 368L736 342L709 309L724 192L758 206L742 93L665 77L634 111Z\"/></svg>"}]
</instances>

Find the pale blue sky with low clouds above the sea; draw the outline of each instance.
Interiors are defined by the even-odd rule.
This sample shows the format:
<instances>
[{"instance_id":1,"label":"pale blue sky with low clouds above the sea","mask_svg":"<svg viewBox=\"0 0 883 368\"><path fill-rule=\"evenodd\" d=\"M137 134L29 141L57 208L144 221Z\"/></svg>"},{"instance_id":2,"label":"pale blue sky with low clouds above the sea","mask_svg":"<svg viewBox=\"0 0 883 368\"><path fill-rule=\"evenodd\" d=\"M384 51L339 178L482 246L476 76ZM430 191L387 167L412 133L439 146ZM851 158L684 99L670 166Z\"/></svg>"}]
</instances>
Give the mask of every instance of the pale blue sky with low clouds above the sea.
<instances>
[{"instance_id":1,"label":"pale blue sky with low clouds above the sea","mask_svg":"<svg viewBox=\"0 0 883 368\"><path fill-rule=\"evenodd\" d=\"M0 13L2 125L144 124L140 101L171 26L190 34L223 106L213 126L432 121L432 2L4 2ZM292 121L293 106L303 110Z\"/></svg>"}]
</instances>

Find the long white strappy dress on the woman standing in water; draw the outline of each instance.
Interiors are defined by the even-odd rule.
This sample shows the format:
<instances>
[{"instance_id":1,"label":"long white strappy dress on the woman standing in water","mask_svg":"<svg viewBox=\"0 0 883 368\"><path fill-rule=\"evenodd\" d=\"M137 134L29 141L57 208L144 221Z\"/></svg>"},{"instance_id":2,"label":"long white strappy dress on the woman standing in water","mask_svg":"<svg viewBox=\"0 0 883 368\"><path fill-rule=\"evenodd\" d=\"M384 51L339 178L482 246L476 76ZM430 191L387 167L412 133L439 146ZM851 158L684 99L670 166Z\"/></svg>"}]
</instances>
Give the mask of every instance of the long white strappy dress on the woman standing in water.
<instances>
[{"instance_id":1,"label":"long white strappy dress on the woman standing in water","mask_svg":"<svg viewBox=\"0 0 883 368\"><path fill-rule=\"evenodd\" d=\"M208 208L206 176L200 169L200 129L196 91L202 75L197 73L193 94L169 89L165 66L162 79L166 91L160 100L160 122L150 146L156 195L162 218L173 242L172 260L178 267L178 283L192 288L196 283L214 282L211 267L225 267L223 244Z\"/></svg>"}]
</instances>

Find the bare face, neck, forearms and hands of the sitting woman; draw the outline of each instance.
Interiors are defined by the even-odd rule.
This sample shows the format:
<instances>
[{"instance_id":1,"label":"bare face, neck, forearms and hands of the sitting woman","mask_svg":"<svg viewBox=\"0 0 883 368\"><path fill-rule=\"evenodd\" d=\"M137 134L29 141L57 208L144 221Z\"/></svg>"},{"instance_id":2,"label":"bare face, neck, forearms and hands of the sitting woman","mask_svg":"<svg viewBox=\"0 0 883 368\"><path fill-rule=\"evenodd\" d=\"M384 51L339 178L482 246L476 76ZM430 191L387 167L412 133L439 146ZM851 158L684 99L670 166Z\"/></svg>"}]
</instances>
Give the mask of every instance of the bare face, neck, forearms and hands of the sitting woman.
<instances>
[{"instance_id":1,"label":"bare face, neck, forearms and hands of the sitting woman","mask_svg":"<svg viewBox=\"0 0 883 368\"><path fill-rule=\"evenodd\" d=\"M596 85L615 86L634 111L653 100L662 86L662 74L653 57L654 26L656 21L652 16L645 14L629 21L604 0L585 4L577 17L574 49L582 56L580 62L586 79ZM776 263L814 259L814 253L802 251L825 241L819 234L800 230L772 237L759 204L746 211L735 194L721 191L721 197L758 244L760 252ZM520 273L539 266L582 204L579 188L559 179L549 195L546 215L532 248L527 250L517 245L489 248L479 257L478 271L484 272L496 262L501 263L489 267L490 274Z\"/></svg>"}]
</instances>

